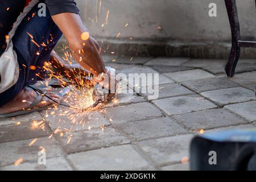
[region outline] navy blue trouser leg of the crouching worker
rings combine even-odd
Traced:
[[[46,16],[39,17],[38,14],[35,14],[32,18],[32,14],[38,10],[38,5],[32,8],[19,24],[12,39],[20,68],[19,78],[10,89],[0,93],[0,107],[12,100],[25,86],[33,85],[40,80],[40,77],[36,76],[37,73],[41,77],[45,76],[42,66],[45,61],[49,60],[53,47],[62,35],[53,22],[48,8]],[[27,32],[33,36],[39,47],[31,41]],[[42,46],[43,43],[46,46]],[[36,70],[30,69],[31,65],[34,65]]]

